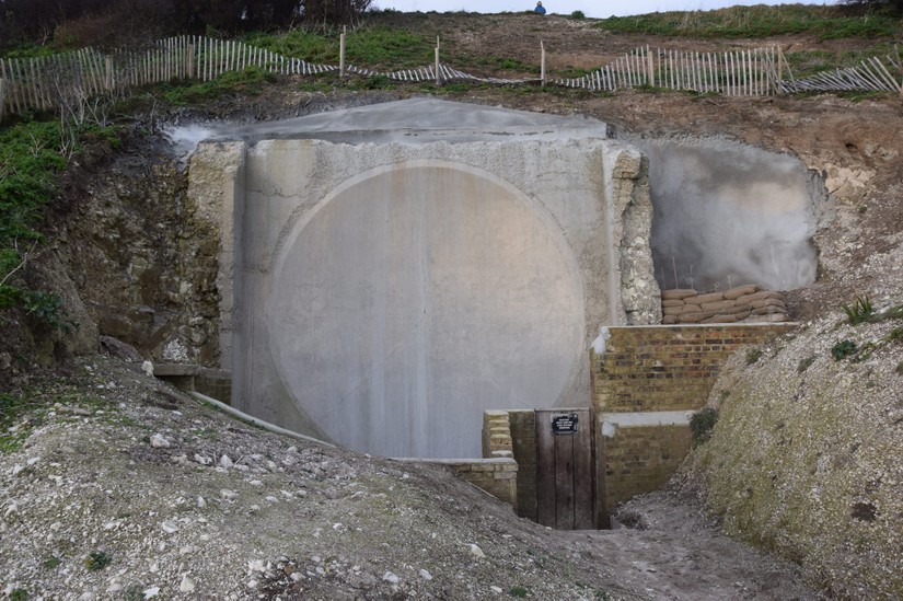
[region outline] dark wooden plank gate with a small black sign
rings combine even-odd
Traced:
[[[536,409],[536,521],[591,530],[595,521],[592,409]]]

